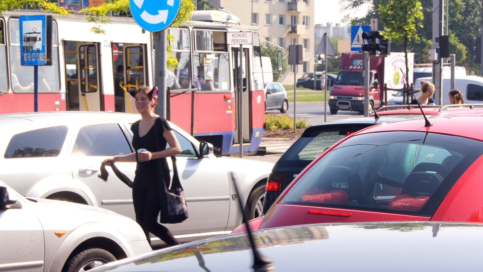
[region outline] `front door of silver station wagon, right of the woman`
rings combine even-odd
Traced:
[[[176,155],[178,174],[185,191],[189,217],[180,224],[170,225],[175,235],[225,231],[230,205],[230,180],[227,169],[220,167],[217,158],[197,158],[194,144],[175,131],[181,145]],[[172,160],[168,159],[172,170]],[[173,172],[171,172],[173,175]]]

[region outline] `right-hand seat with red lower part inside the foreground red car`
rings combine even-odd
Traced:
[[[439,187],[443,178],[434,172],[412,172],[403,185],[401,194],[388,204],[389,210],[418,212]]]

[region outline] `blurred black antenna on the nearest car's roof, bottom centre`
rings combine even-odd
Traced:
[[[241,203],[241,198],[240,194],[238,193],[238,188],[236,187],[236,175],[233,172],[230,172],[231,180],[233,182],[233,187],[235,188],[235,193],[238,196],[238,204],[240,205],[241,209],[241,215],[243,217],[243,223],[245,223],[245,226],[247,228],[247,233],[248,233],[248,239],[250,242],[250,245],[252,246],[252,253],[253,253],[253,265],[252,267],[255,269],[257,272],[265,272],[265,271],[271,271],[275,269],[275,263],[267,258],[266,256],[260,254],[260,252],[257,250],[257,244],[255,243],[253,239],[253,234],[252,230],[250,228],[250,225],[248,224],[247,217],[245,216],[245,212],[243,209],[243,203]]]

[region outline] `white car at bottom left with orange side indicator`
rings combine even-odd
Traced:
[[[0,182],[0,270],[86,271],[151,251],[141,227],[112,211],[24,198]]]

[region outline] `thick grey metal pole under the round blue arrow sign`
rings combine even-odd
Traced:
[[[157,106],[154,112],[166,118],[166,75],[167,75],[167,45],[166,45],[166,30],[153,33],[153,43],[154,43],[154,68],[156,69],[153,73],[154,85],[158,88],[157,93]],[[146,66],[147,63],[144,63]]]

